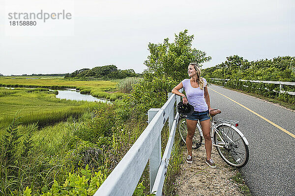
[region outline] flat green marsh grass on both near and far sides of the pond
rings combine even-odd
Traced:
[[[116,84],[112,81],[67,81],[61,77],[0,77],[0,86],[15,88],[0,88],[0,129],[12,121],[17,111],[23,124],[37,122],[39,126],[45,126],[73,115],[81,116],[97,105],[86,101],[60,100],[55,98],[57,92],[49,92],[48,88],[76,88],[82,94],[116,100],[124,95],[116,92]]]

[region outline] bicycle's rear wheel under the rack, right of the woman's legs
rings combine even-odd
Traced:
[[[249,160],[249,148],[242,136],[232,127],[220,124],[214,131],[214,144],[221,158],[229,165],[241,168]],[[236,128],[237,129],[237,128]]]

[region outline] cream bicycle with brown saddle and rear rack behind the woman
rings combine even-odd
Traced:
[[[217,119],[211,116],[210,136],[212,146],[216,147],[218,154],[230,166],[241,168],[249,160],[248,141],[243,133],[237,128],[238,121]],[[187,135],[186,116],[181,116],[177,122],[180,137],[184,143]],[[197,123],[193,137],[193,148],[199,148],[205,143],[200,122]]]

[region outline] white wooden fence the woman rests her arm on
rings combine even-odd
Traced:
[[[181,90],[182,91],[182,90]],[[179,114],[174,116],[174,104],[180,97],[169,93],[161,108],[148,110],[148,126],[99,187],[94,196],[132,196],[149,159],[150,193],[162,195],[165,175],[174,143]],[[170,135],[161,153],[161,130],[169,121]]]

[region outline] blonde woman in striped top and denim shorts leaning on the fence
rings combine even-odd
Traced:
[[[186,158],[187,163],[193,162],[192,155],[192,142],[195,134],[198,120],[200,121],[203,136],[205,138],[206,148],[206,163],[211,168],[216,168],[214,161],[211,159],[212,141],[210,137],[210,117],[209,112],[212,110],[210,107],[210,98],[207,89],[207,81],[205,78],[200,77],[201,70],[196,63],[190,63],[187,69],[190,79],[182,80],[173,90],[172,93],[181,96],[182,102],[188,102],[194,106],[194,113],[188,115],[186,118],[187,123],[187,136],[186,147],[188,155]],[[179,89],[184,88],[186,96],[179,92]]]

